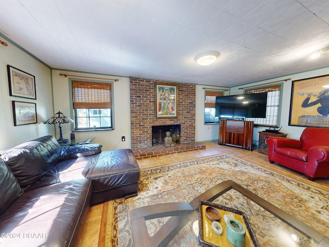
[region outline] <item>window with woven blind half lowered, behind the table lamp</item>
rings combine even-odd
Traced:
[[[75,130],[113,129],[112,84],[72,81]]]

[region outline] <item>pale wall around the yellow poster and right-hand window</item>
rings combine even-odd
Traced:
[[[292,87],[293,81],[300,80],[300,79],[306,79],[306,78],[310,78],[310,77],[323,76],[323,75],[328,75],[328,74],[329,74],[329,67],[315,69],[315,70],[311,70],[308,72],[302,72],[302,73],[272,78],[272,79],[268,79],[268,80],[264,80],[264,81],[254,82],[254,83],[250,83],[250,84],[246,84],[246,85],[242,85],[242,86],[231,87],[230,94],[231,95],[243,94],[244,90],[239,90],[240,87],[257,86],[257,85],[260,85],[263,83],[291,78],[291,80],[288,80],[288,81],[284,82],[284,84],[283,84],[283,95],[282,95],[282,102],[281,102],[282,108],[281,108],[279,125],[280,125],[280,127],[282,126],[282,129],[280,131],[288,134],[287,137],[299,139],[299,137],[300,137],[301,133],[303,132],[303,130],[305,129],[305,127],[299,127],[299,126],[296,127],[296,126],[288,125],[289,111],[290,111],[291,87]],[[263,131],[265,129],[267,129],[267,127],[255,127],[253,130],[253,140],[255,140],[257,142],[259,139],[258,132]]]

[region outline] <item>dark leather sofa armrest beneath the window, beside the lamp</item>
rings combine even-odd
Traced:
[[[77,146],[62,147],[59,162],[70,160],[81,156],[98,154],[102,150],[101,144],[84,144]]]

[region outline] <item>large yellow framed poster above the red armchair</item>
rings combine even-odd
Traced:
[[[329,128],[329,75],[293,81],[289,125]]]

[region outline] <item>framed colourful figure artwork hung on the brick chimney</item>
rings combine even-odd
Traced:
[[[177,86],[155,85],[155,112],[158,118],[177,117]]]

